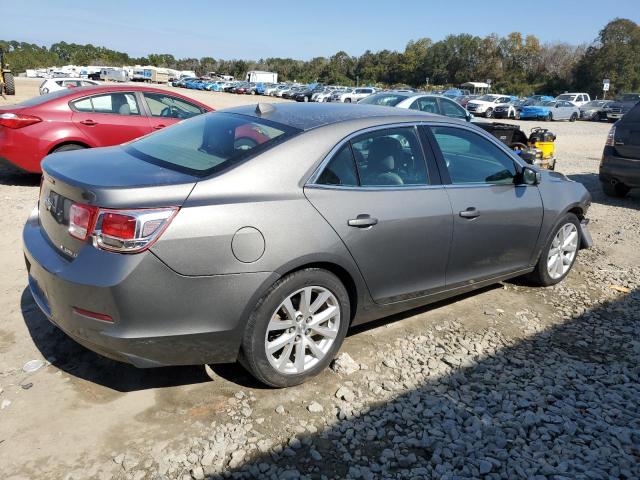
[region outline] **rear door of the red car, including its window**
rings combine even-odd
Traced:
[[[151,132],[133,93],[95,95],[71,104],[71,120],[92,146],[119,145]]]

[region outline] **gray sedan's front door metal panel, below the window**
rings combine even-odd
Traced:
[[[453,242],[447,285],[525,268],[542,224],[542,200],[536,186],[448,185],[453,208]],[[475,208],[477,217],[460,212]]]

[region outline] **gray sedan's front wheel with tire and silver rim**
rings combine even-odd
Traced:
[[[548,287],[561,282],[571,271],[580,248],[580,221],[565,214],[553,229],[536,268],[528,276],[535,285]]]

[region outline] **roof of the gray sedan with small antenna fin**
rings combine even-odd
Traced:
[[[384,124],[393,121],[424,121],[434,118],[437,118],[439,122],[457,123],[453,119],[441,115],[403,108],[382,107],[380,105],[344,103],[260,104],[260,106],[263,105],[265,106],[265,113],[262,115],[257,113],[256,105],[245,105],[222,111],[264,118],[305,131],[325,125],[363,119],[374,119],[372,121],[373,124]]]

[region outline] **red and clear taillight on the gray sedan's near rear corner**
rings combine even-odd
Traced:
[[[93,236],[94,245],[103,250],[138,253],[160,238],[177,211],[176,207],[111,210],[73,204],[69,234],[80,240]]]

